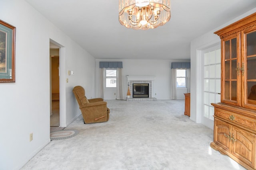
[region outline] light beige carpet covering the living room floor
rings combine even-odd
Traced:
[[[66,129],[79,134],[51,141],[22,170],[244,170],[210,148],[213,131],[184,115],[184,100],[109,100],[110,119]]]

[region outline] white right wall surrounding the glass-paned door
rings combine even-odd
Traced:
[[[215,35],[214,32],[238,21],[250,14],[256,12],[256,8],[246,12],[245,14],[231,20],[223,25],[216,25],[215,29],[205,33],[204,35],[194,39],[190,44],[190,55],[191,55],[191,84],[190,84],[190,119],[196,121],[196,123],[202,123],[213,129],[213,121],[206,122],[203,118],[202,105],[203,105],[203,79],[202,79],[202,50],[213,47],[214,45],[220,44],[220,38]]]

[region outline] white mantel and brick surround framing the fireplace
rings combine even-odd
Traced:
[[[154,76],[126,76],[127,84],[129,83],[130,94],[126,101],[156,101],[154,98]],[[132,98],[132,84],[133,83],[148,83],[149,84],[149,98]]]

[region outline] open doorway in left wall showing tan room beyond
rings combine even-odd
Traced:
[[[60,126],[60,49],[50,47],[50,127]]]

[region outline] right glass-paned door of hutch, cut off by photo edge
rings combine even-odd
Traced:
[[[249,31],[244,34],[244,67],[242,67],[242,76],[244,76],[244,97],[245,107],[256,108],[256,31]]]

